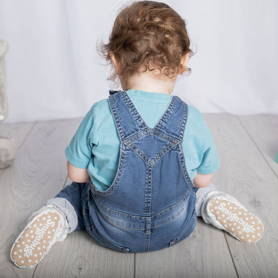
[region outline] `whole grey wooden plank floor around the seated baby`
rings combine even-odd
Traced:
[[[0,277],[278,277],[278,116],[206,114],[222,163],[213,182],[258,215],[265,227],[254,245],[198,219],[193,234],[158,252],[122,254],[75,231],[35,268],[10,261],[28,215],[70,183],[64,149],[81,119],[0,124],[15,138],[17,158],[0,170]]]

